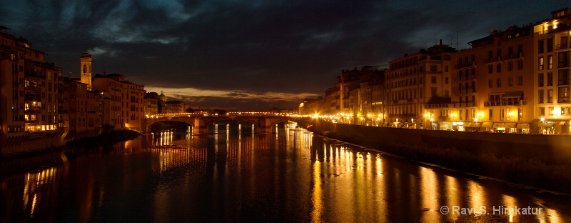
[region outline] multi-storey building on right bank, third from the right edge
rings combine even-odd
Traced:
[[[451,54],[455,49],[440,44],[389,62],[385,71],[385,118],[390,127],[437,129],[433,107],[450,104]],[[430,110],[428,110],[430,111]],[[443,114],[448,116],[448,114]]]

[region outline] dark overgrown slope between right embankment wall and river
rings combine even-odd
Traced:
[[[305,126],[309,126],[307,124]],[[525,156],[500,153],[475,153],[469,149],[437,147],[428,144],[406,144],[402,142],[380,142],[380,139],[360,137],[360,134],[340,134],[343,126],[325,129],[320,124],[308,128],[315,134],[343,142],[358,144],[395,154],[417,162],[435,164],[440,167],[477,174],[515,184],[545,189],[552,192],[571,194],[571,162],[548,162]],[[428,130],[427,130],[428,131]],[[537,147],[537,149],[542,149]]]

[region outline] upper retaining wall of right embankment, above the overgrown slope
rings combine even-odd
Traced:
[[[313,130],[326,137],[343,138],[371,147],[410,145],[454,148],[473,154],[494,154],[498,157],[539,159],[549,163],[571,162],[571,137],[567,135],[400,129],[339,124],[323,120],[313,120],[310,124],[313,124]]]

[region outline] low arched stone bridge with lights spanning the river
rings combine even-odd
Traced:
[[[157,114],[143,119],[142,130],[149,132],[157,122],[184,122],[192,126],[192,134],[208,133],[208,125],[221,121],[246,121],[254,124],[260,134],[271,133],[272,127],[281,122],[293,120],[289,114],[274,112],[228,112],[226,114],[178,113]]]

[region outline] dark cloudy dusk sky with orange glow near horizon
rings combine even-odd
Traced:
[[[2,0],[0,26],[63,76],[122,74],[194,109],[290,109],[342,69],[550,18],[565,1]]]

